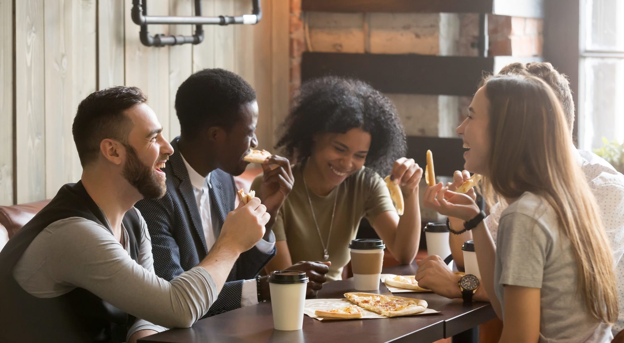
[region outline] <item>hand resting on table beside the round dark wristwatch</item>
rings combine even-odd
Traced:
[[[431,255],[416,261],[416,264],[418,271],[415,279],[418,286],[449,299],[462,297],[457,284],[461,276],[453,273],[440,256]]]

